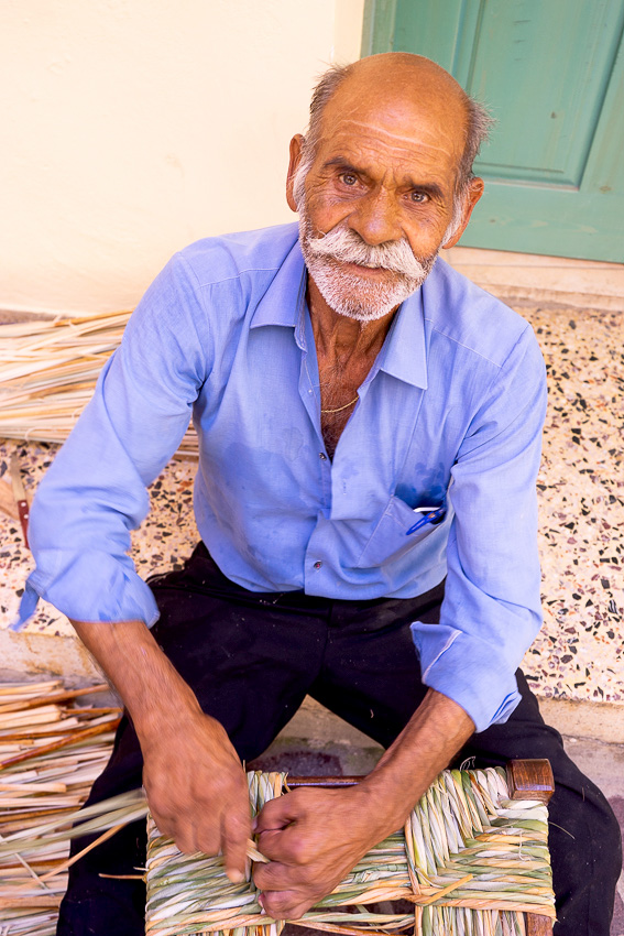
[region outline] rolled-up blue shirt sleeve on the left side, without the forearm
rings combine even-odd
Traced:
[[[142,620],[157,609],[128,555],[146,486],[178,447],[210,359],[199,290],[179,255],[154,281],[95,395],[32,504],[31,574],[20,629],[40,597],[80,621]]]

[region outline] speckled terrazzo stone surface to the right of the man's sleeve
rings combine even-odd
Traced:
[[[521,309],[548,368],[540,695],[624,704],[624,315]]]

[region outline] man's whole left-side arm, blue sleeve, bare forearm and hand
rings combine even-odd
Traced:
[[[39,595],[70,620],[90,622],[75,628],[130,711],[158,827],[184,850],[221,847],[236,877],[250,825],[242,766],[145,625],[157,607],[129,555],[130,530],[147,513],[146,487],[177,448],[211,371],[208,312],[193,271],[174,258],[40,485],[25,610]]]

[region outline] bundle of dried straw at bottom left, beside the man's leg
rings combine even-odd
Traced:
[[[56,930],[67,886],[67,824],[110,757],[120,716],[118,708],[86,707],[80,697],[108,688],[0,684],[2,936]]]

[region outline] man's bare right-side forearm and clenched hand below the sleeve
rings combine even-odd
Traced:
[[[358,786],[296,790],[272,799],[255,823],[270,864],[254,880],[266,912],[297,919],[330,893],[409,810],[474,731],[457,703],[429,689],[396,741]]]

